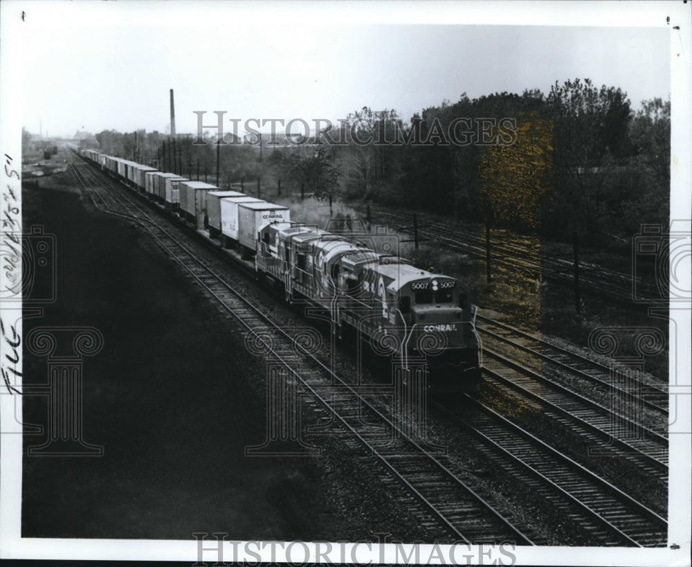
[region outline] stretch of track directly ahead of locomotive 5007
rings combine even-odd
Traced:
[[[531,494],[545,498],[565,521],[579,525],[602,546],[666,544],[667,521],[660,514],[486,404],[465,396],[478,411],[464,417],[446,404],[434,405],[470,433],[468,442],[509,469]]]

